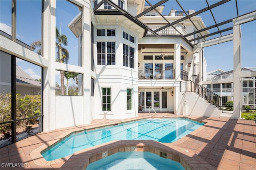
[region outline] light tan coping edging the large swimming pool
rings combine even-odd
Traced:
[[[87,125],[83,125],[83,126],[78,126],[76,127],[75,129],[72,129],[70,131],[67,131],[66,133],[63,133],[62,135],[58,136],[57,138],[53,139],[52,141],[48,141],[46,142],[44,145],[42,145],[41,147],[38,147],[37,149],[33,150],[32,152],[30,152],[30,157],[32,158],[33,162],[36,164],[36,165],[39,165],[39,166],[46,166],[46,165],[53,165],[53,164],[56,164],[56,163],[60,163],[60,162],[69,162],[68,160],[70,158],[72,158],[72,156],[80,153],[80,152],[88,152],[88,149],[92,149],[92,147],[88,148],[88,149],[83,149],[83,150],[80,150],[80,151],[76,151],[74,154],[72,154],[71,156],[66,156],[64,158],[59,158],[59,159],[56,159],[56,160],[51,160],[51,161],[47,161],[45,160],[45,158],[42,156],[42,152],[44,152],[45,150],[52,148],[54,147],[55,145],[57,145],[58,143],[60,143],[61,141],[63,141],[66,137],[74,134],[74,133],[79,133],[81,131],[84,131],[84,130],[87,130],[87,131],[90,131],[90,130],[95,130],[95,129],[100,129],[100,128],[104,128],[104,127],[110,127],[110,126],[113,126],[113,125],[116,125],[116,124],[121,124],[121,123],[128,123],[128,122],[132,122],[132,121],[138,121],[138,120],[143,120],[143,119],[147,119],[147,118],[161,118],[161,117],[165,117],[165,118],[183,118],[183,119],[190,119],[190,120],[193,120],[193,121],[197,121],[197,122],[200,122],[200,123],[205,123],[204,125],[209,125],[210,122],[209,121],[198,121],[194,118],[189,118],[189,117],[182,117],[182,116],[157,116],[157,115],[151,115],[151,116],[145,116],[145,117],[136,117],[135,119],[134,118],[131,118],[131,119],[124,119],[124,120],[114,120],[114,121],[110,121],[110,122],[107,122],[107,123],[101,123],[101,124],[95,124],[95,125],[90,125],[90,128],[86,128]],[[192,131],[190,133],[190,135],[194,135],[196,134],[198,131],[201,131],[202,128],[204,128],[204,125],[202,125],[201,127],[199,127],[198,129]],[[175,141],[173,143],[161,143],[162,145],[172,145],[172,147],[174,145],[178,145],[180,143],[183,143],[184,141],[186,141],[187,139],[189,139],[188,137],[184,136],[182,137],[181,139],[179,139],[178,141]],[[125,140],[125,141],[133,141],[133,140]],[[150,140],[134,140],[134,141],[150,141]],[[117,142],[117,141],[115,141]],[[160,142],[157,142],[157,141],[154,141],[156,143],[160,143]],[[110,142],[111,143],[111,142]],[[104,143],[104,144],[101,144],[101,145],[97,145],[95,147],[101,147],[103,145],[111,145],[109,143]],[[122,142],[121,142],[121,145]],[[116,146],[117,147],[117,146]],[[119,143],[118,143],[118,147],[119,147]],[[135,146],[135,144],[133,144],[132,146],[131,145],[127,145],[127,147],[137,147]],[[153,145],[151,146],[153,147]],[[175,146],[177,147],[177,146]],[[94,147],[93,147],[94,148]],[[103,147],[104,148],[104,147]],[[87,150],[87,151],[86,151]],[[99,150],[99,149],[96,149],[96,150]],[[101,149],[100,149],[101,150]],[[176,151],[177,152],[177,151]],[[99,154],[98,152],[96,152],[96,154]],[[194,153],[195,154],[195,153]],[[200,157],[200,156],[199,156]],[[206,161],[204,161],[206,162]],[[64,165],[66,164],[64,163]],[[207,163],[207,162],[206,162]],[[208,164],[208,163],[207,163]],[[63,165],[63,166],[64,166]],[[87,167],[87,166],[86,166]],[[81,168],[81,166],[80,166]],[[187,168],[186,168],[187,169]]]

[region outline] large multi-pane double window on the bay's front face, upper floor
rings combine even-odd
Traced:
[[[107,63],[106,63],[107,61]],[[116,64],[116,43],[97,42],[97,64],[115,65]]]

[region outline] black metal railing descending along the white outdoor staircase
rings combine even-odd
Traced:
[[[196,82],[192,82],[191,80],[181,81],[180,92],[194,92],[206,100],[206,102],[222,109],[222,98]]]

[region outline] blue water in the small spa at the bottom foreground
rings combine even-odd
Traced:
[[[174,160],[151,152],[117,152],[88,165],[86,170],[185,170]]]

